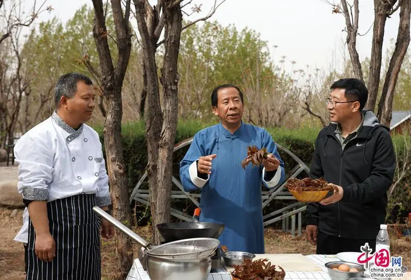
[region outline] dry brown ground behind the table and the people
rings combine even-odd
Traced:
[[[13,210],[0,208],[0,280],[24,280],[24,250],[20,242],[13,241],[14,236],[22,225],[23,211],[18,210],[15,217],[10,217]],[[148,227],[135,229],[137,234],[146,240],[151,239]],[[279,230],[266,229],[267,253],[301,253],[314,254],[313,247],[304,236],[292,237],[289,233]],[[391,235],[391,254],[402,256],[405,266],[411,265],[411,239],[397,238]],[[115,239],[102,240],[102,280],[114,279],[118,273],[115,256]],[[134,244],[134,257],[137,257],[139,246]]]

